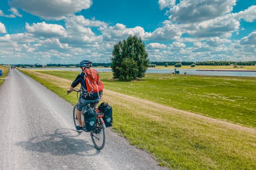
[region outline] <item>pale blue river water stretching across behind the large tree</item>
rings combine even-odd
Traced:
[[[26,68],[26,69],[44,69],[44,70],[62,70],[62,71],[80,71],[80,68]],[[111,72],[111,68],[94,68],[99,72]],[[250,71],[196,71],[196,69],[177,69],[180,74],[195,74],[195,75],[209,75],[209,76],[242,76],[242,77],[256,77],[256,72]],[[159,73],[159,74],[171,74],[173,69],[153,69],[149,68],[146,73]]]

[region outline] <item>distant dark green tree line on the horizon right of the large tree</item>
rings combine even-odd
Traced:
[[[155,65],[175,65],[177,63],[181,63],[182,65],[255,65],[256,61],[198,61],[198,62],[192,62],[192,61],[154,61],[150,62],[150,64]]]

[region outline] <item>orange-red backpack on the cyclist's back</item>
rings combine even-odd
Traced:
[[[98,93],[98,96],[99,96],[99,92],[103,91],[104,84],[100,81],[99,74],[96,70],[93,70],[93,69],[85,70],[84,81],[86,83],[87,93],[89,95],[93,93]]]

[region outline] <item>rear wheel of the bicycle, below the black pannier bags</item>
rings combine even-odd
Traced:
[[[102,122],[97,119],[97,123],[95,125],[95,129],[90,131],[90,135],[93,141],[94,146],[102,150],[105,146],[106,142],[106,134],[105,134],[105,128],[102,125]]]

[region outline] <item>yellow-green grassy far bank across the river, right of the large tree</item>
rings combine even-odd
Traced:
[[[174,65],[169,65],[168,67],[165,67],[164,65],[157,65],[154,69],[174,69]],[[190,65],[182,65],[180,69],[225,69],[225,70],[256,70],[255,65],[245,65],[243,67],[240,67],[238,65],[238,68],[234,68],[233,65],[196,65],[195,67],[190,67]]]

